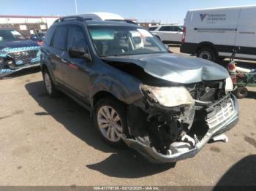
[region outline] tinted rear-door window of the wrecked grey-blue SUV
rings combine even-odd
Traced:
[[[53,39],[53,47],[59,50],[67,50],[67,26],[59,26],[56,28]]]

